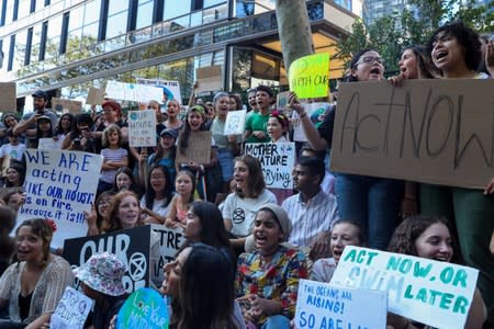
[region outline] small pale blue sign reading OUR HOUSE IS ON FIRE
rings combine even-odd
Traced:
[[[128,111],[128,145],[132,147],[156,146],[156,111]]]

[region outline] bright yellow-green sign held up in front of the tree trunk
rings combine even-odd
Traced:
[[[329,54],[301,57],[290,65],[290,90],[299,99],[327,97],[329,92]]]

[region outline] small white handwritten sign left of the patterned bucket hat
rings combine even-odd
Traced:
[[[52,315],[50,329],[82,329],[91,310],[92,299],[68,286]]]

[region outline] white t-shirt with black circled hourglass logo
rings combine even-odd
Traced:
[[[252,228],[257,211],[267,203],[277,203],[274,194],[265,189],[257,198],[239,197],[236,193],[226,196],[223,218],[232,219],[232,234],[247,237]]]

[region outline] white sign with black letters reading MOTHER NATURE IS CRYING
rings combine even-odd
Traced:
[[[268,188],[293,189],[294,143],[247,143],[245,154],[259,159]]]

